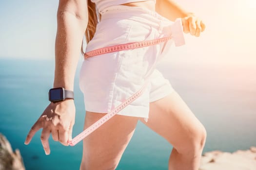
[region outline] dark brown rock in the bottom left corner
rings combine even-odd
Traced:
[[[25,170],[20,151],[13,152],[11,144],[0,133],[0,170]]]

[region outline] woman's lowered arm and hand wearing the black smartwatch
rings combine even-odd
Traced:
[[[57,21],[53,86],[73,90],[80,47],[88,21],[87,1],[59,0]],[[45,154],[50,154],[48,142],[50,134],[52,134],[53,140],[68,145],[68,140],[72,139],[75,112],[75,104],[72,99],[51,102],[32,126],[25,144],[29,144],[35,133],[42,128],[41,142]]]

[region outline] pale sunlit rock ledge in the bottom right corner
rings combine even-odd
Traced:
[[[202,155],[199,170],[256,170],[256,147],[234,153],[212,151]]]

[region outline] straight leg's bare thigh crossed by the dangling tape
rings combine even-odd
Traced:
[[[86,111],[84,129],[105,114]],[[137,117],[116,115],[83,140],[81,170],[114,170],[134,134]]]

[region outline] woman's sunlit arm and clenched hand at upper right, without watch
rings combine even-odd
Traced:
[[[157,0],[156,11],[171,21],[175,21],[178,17],[182,18],[184,33],[199,36],[205,29],[205,24],[200,18],[185,11],[173,0]]]

